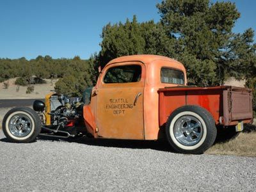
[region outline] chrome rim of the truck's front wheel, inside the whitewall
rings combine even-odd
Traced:
[[[28,116],[23,114],[13,115],[10,118],[9,129],[13,136],[22,138],[28,136],[32,130],[32,122]]]

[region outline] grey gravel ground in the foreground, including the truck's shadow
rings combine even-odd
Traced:
[[[255,191],[256,158],[183,155],[166,143],[82,138],[8,143],[0,191]]]

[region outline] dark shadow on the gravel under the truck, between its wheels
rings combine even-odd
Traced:
[[[110,140],[110,139],[93,139],[93,138],[68,138],[58,139],[47,136],[38,136],[38,140],[47,141],[67,141],[70,143],[81,143],[99,147],[116,147],[116,148],[138,148],[152,149],[166,152],[174,152],[167,141],[139,141],[139,140]]]

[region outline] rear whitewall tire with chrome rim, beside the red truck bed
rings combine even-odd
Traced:
[[[217,130],[211,113],[200,106],[182,106],[169,116],[166,137],[177,152],[202,154],[212,146]]]

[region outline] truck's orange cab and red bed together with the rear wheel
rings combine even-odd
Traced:
[[[167,138],[173,148],[198,153],[215,141],[216,127],[229,127],[228,131],[235,135],[243,124],[252,121],[251,90],[231,86],[195,88],[186,84],[186,69],[179,61],[155,55],[116,58],[100,72],[90,104],[83,107],[86,129],[94,138],[124,140],[159,140],[166,137],[164,129],[168,129]],[[179,114],[179,110],[183,116],[177,119],[172,114]],[[179,120],[180,129],[175,128],[177,125],[168,128],[173,118]],[[190,131],[186,132],[189,126]],[[193,126],[198,127],[192,129]],[[198,140],[211,141],[198,149],[193,147],[196,137],[196,145]]]

